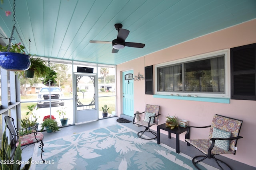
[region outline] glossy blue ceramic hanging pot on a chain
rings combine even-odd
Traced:
[[[0,52],[0,66],[10,71],[28,70],[31,64],[29,58],[21,53]]]

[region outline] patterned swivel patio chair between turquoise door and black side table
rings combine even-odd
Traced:
[[[143,111],[142,113],[145,113],[144,114],[144,120],[140,120],[140,121],[135,121],[135,118],[136,118],[136,115],[140,115],[142,113],[138,113],[136,112],[134,114],[134,118],[133,118],[133,121],[132,123],[133,124],[136,124],[136,125],[140,125],[140,126],[144,126],[145,127],[145,130],[144,131],[140,131],[138,132],[138,137],[139,138],[142,138],[142,139],[156,139],[156,133],[155,132],[152,132],[150,130],[150,127],[152,125],[158,125],[158,116],[160,114],[159,113],[159,107],[160,106],[157,106],[157,105],[150,105],[150,104],[146,104],[146,109],[145,111]],[[152,138],[147,138],[147,137],[142,137],[142,135],[145,133],[145,132],[151,132],[154,137]]]

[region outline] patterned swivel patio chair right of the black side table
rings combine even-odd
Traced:
[[[204,127],[188,126],[189,130],[186,133],[186,138],[190,138],[190,128],[205,128],[210,127],[209,139],[186,139],[186,141],[193,145],[196,149],[204,153],[204,155],[195,156],[192,159],[194,166],[200,170],[197,166],[198,162],[205,160],[206,158],[214,158],[220,169],[219,161],[226,164],[220,159],[215,158],[218,154],[236,154],[236,144],[238,139],[242,138],[239,136],[242,120],[225,117],[222,115],[214,115],[212,125]],[[201,157],[202,159],[197,159]],[[228,168],[232,168],[226,164]]]

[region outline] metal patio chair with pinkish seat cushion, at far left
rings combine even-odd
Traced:
[[[11,135],[12,135],[12,140],[11,140],[11,147],[16,149],[16,147],[18,147],[19,142],[20,142],[20,146],[25,146],[23,149],[25,149],[26,147],[28,147],[31,144],[34,143],[39,143],[39,148],[41,149],[41,159],[44,162],[43,158],[42,158],[42,153],[44,152],[43,147],[44,147],[44,135],[41,132],[32,132],[30,134],[24,135],[22,137],[19,137],[18,135],[18,131],[20,129],[16,129],[15,125],[14,125],[14,119],[12,117],[9,116],[5,116],[4,117],[5,123],[6,123],[6,127],[9,129]]]

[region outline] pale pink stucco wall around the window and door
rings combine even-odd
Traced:
[[[256,20],[217,31],[117,65],[117,115],[120,116],[122,114],[122,71],[132,69],[134,70],[134,75],[137,75],[138,72],[145,75],[145,66],[251,43],[256,43]],[[143,80],[134,82],[134,111],[144,111],[146,104],[160,105],[160,113],[162,114],[159,119],[160,124],[165,122],[165,116],[168,113],[170,115],[176,114],[180,119],[189,120],[190,125],[198,126],[210,125],[212,117],[216,113],[243,120],[240,131],[240,135],[243,138],[238,141],[236,155],[224,154],[223,156],[256,167],[256,137],[254,129],[256,125],[256,101],[230,100],[230,104],[221,104],[153,98],[152,95],[145,95],[144,86]],[[156,126],[153,126],[152,129],[156,130]],[[209,129],[193,129],[191,138],[207,138],[208,131]],[[180,140],[184,141],[184,134],[180,136]]]

